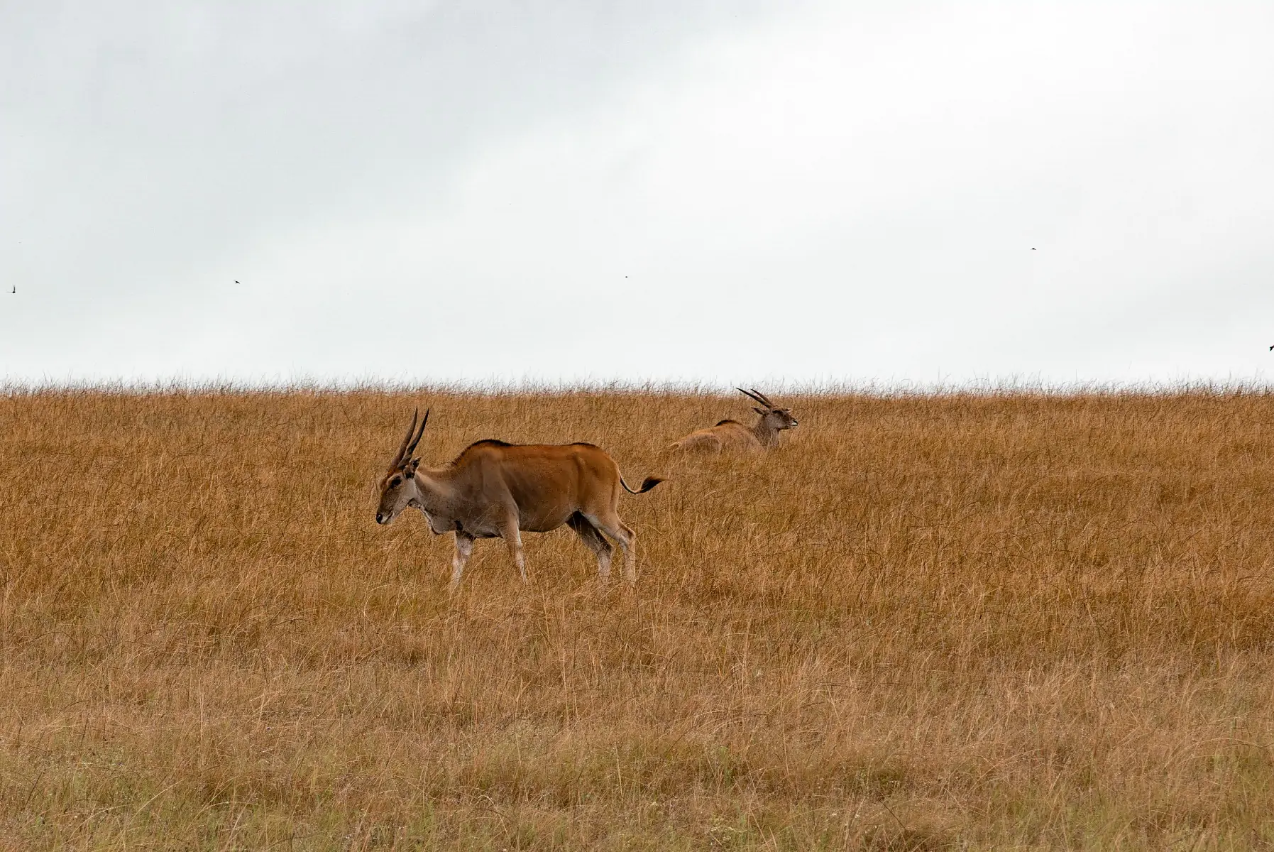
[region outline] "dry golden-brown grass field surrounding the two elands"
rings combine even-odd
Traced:
[[[1274,396],[0,396],[0,848],[1274,846]],[[590,441],[640,578],[375,523]]]

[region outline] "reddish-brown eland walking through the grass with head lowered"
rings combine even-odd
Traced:
[[[624,553],[624,579],[637,581],[637,535],[619,517],[619,489],[645,494],[664,480],[648,476],[633,490],[619,475],[615,460],[591,443],[511,444],[488,439],[469,444],[448,465],[420,467],[420,460],[412,453],[420,443],[429,413],[417,429],[419,414],[417,409],[412,415],[406,437],[381,481],[376,522],[390,523],[410,506],[424,513],[436,534],[455,532],[452,591],[460,585],[474,539],[503,539],[526,582],[521,531],[548,532],[563,523],[596,554],[603,579],[610,576],[614,550],[605,532]]]

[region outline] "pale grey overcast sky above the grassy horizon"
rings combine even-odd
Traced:
[[[0,0],[0,378],[1269,381],[1271,45],[1268,0]]]

